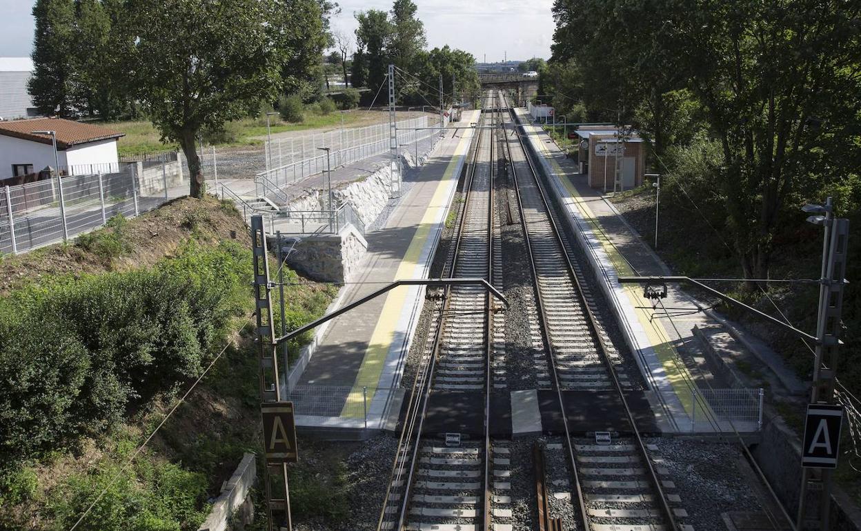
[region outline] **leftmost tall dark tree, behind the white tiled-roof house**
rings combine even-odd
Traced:
[[[70,116],[75,83],[75,4],[73,0],[38,0],[33,16],[36,32],[30,96],[40,114]]]

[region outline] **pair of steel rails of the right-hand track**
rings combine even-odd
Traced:
[[[511,117],[513,119],[514,118],[513,111],[510,111],[510,114],[511,114]],[[661,481],[660,481],[660,478],[658,477],[658,473],[655,470],[653,463],[652,463],[652,460],[650,459],[650,457],[648,455],[646,444],[642,440],[640,429],[637,428],[634,415],[630,409],[627,398],[625,398],[622,385],[620,384],[618,377],[616,375],[616,369],[615,369],[615,367],[613,367],[612,363],[610,362],[610,358],[607,355],[607,350],[608,350],[608,346],[606,344],[607,340],[601,334],[598,333],[598,329],[599,329],[598,318],[595,316],[594,312],[592,312],[592,308],[589,307],[589,305],[587,304],[587,301],[585,300],[585,296],[583,294],[583,286],[580,284],[579,276],[577,275],[577,270],[573,265],[571,257],[568,256],[568,250],[567,250],[566,246],[564,244],[562,244],[561,231],[560,231],[558,225],[556,225],[556,221],[555,221],[553,215],[551,214],[553,211],[550,208],[550,205],[549,205],[549,202],[547,199],[547,193],[545,192],[544,187],[543,187],[542,182],[541,182],[541,179],[539,178],[538,170],[536,169],[536,166],[532,161],[533,154],[531,153],[530,149],[527,148],[527,146],[523,142],[522,133],[525,134],[523,127],[517,124],[516,119],[514,119],[512,121],[514,122],[515,130],[516,130],[516,134],[517,134],[517,142],[519,143],[519,145],[523,149],[523,154],[525,156],[526,162],[530,167],[530,173],[535,178],[536,187],[538,189],[542,204],[544,205],[545,210],[548,213],[548,224],[550,225],[551,231],[554,234],[554,238],[560,243],[560,246],[562,249],[562,256],[564,256],[565,262],[567,264],[568,274],[570,275],[574,285],[577,287],[576,291],[578,293],[580,303],[583,306],[585,315],[588,317],[588,323],[590,325],[590,328],[592,329],[592,332],[594,333],[595,337],[597,337],[597,339],[598,339],[598,342],[597,342],[598,343],[597,344],[598,352],[601,355],[600,356],[601,359],[604,361],[604,365],[607,368],[608,374],[610,375],[610,379],[612,380],[612,383],[613,383],[613,388],[616,390],[619,398],[621,399],[621,402],[623,404],[623,409],[625,412],[625,417],[627,418],[629,425],[631,427],[631,430],[634,433],[635,441],[637,443],[636,448],[639,451],[639,453],[641,454],[641,458],[643,460],[643,463],[645,464],[645,466],[647,468],[647,478],[649,479],[649,482],[652,484],[653,491],[655,491],[658,494],[658,498],[659,498],[658,502],[659,502],[660,512],[661,512],[662,516],[664,517],[665,522],[668,522],[670,524],[669,527],[671,529],[677,529],[678,527],[676,525],[675,518],[672,514],[672,509],[670,508],[670,505],[667,502],[666,494],[664,493],[664,489],[661,485]],[[519,129],[519,131],[517,129]],[[509,146],[509,153],[511,153],[511,145],[508,145],[508,146]],[[512,171],[514,170],[513,164],[511,164],[511,169],[512,169]],[[518,201],[518,204],[520,204],[521,208],[522,208],[523,206],[521,203],[520,192],[519,192],[519,189],[517,188],[517,179],[515,179],[514,182],[515,182],[515,188],[517,190],[517,201]],[[527,232],[526,226],[525,226],[525,221],[523,220],[523,217],[521,217],[521,219],[522,219],[522,223],[523,223],[523,232],[525,234]],[[528,235],[526,236],[526,238],[529,238]],[[529,244],[527,244],[527,248],[530,249]],[[532,252],[530,250],[530,260],[531,260],[531,258],[532,258]],[[532,262],[532,268],[533,268],[533,275],[536,275],[535,262],[534,261]],[[537,278],[537,275],[536,275],[536,278]],[[536,302],[540,304],[540,299],[541,299],[540,294],[536,299],[537,299]],[[550,346],[550,344],[548,343],[548,347],[549,346]],[[571,461],[571,466],[572,466],[571,469],[572,469],[572,473],[573,473],[573,479],[574,479],[575,484],[577,485],[577,493],[578,493],[578,497],[579,497],[580,511],[581,511],[581,516],[583,518],[583,528],[584,529],[590,529],[591,526],[589,525],[589,516],[588,516],[588,513],[586,512],[586,509],[585,509],[585,497],[583,495],[583,490],[582,490],[582,487],[580,485],[580,480],[579,480],[578,473],[577,473],[577,463],[576,463],[576,460],[574,460],[573,444],[571,441],[571,435],[570,435],[570,431],[568,429],[566,415],[564,414],[565,405],[564,405],[564,401],[562,400],[561,387],[559,386],[558,374],[556,373],[556,367],[554,366],[553,363],[551,363],[551,367],[553,368],[554,383],[555,383],[557,391],[559,392],[559,402],[560,402],[560,406],[561,406],[562,411],[563,411],[563,414],[561,417],[563,419],[563,425],[564,425],[564,429],[565,429],[567,448],[568,448],[568,459]]]

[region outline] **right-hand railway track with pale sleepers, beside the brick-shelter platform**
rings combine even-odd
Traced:
[[[505,96],[501,96],[505,100]],[[511,123],[511,115],[505,123]],[[564,442],[548,444],[544,450],[550,460],[567,460],[573,492],[562,489],[554,496],[570,498],[577,505],[580,528],[591,531],[658,531],[680,529],[677,518],[687,516],[684,509],[672,507],[681,501],[672,481],[663,479],[667,471],[660,458],[650,452],[641,439],[633,415],[624,397],[630,381],[622,360],[596,315],[592,293],[572,256],[567,237],[559,230],[554,209],[548,202],[536,167],[523,139],[520,127],[516,134],[506,134],[505,152],[510,161],[513,182],[521,210],[523,232],[536,282],[536,306],[543,339],[547,345],[549,374],[545,381],[559,392],[563,411]],[[539,381],[541,381],[541,377]],[[563,392],[612,391],[621,398],[632,436],[616,441],[573,438],[573,428],[564,415]],[[609,437],[608,437],[609,439]],[[563,455],[558,455],[560,453]],[[554,455],[556,454],[556,455]],[[549,479],[561,485],[563,479]],[[548,509],[541,529],[556,528],[554,515]]]

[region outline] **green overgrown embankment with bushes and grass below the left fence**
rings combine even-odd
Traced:
[[[102,491],[79,529],[202,522],[259,446],[245,233],[231,205],[186,198],[3,259],[0,528],[68,529]],[[290,326],[318,317],[333,293],[288,287]]]

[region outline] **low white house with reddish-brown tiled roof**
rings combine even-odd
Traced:
[[[62,118],[10,120],[0,121],[0,181],[56,167],[51,135],[34,131],[56,132],[61,175],[117,171],[116,142],[125,133]]]

